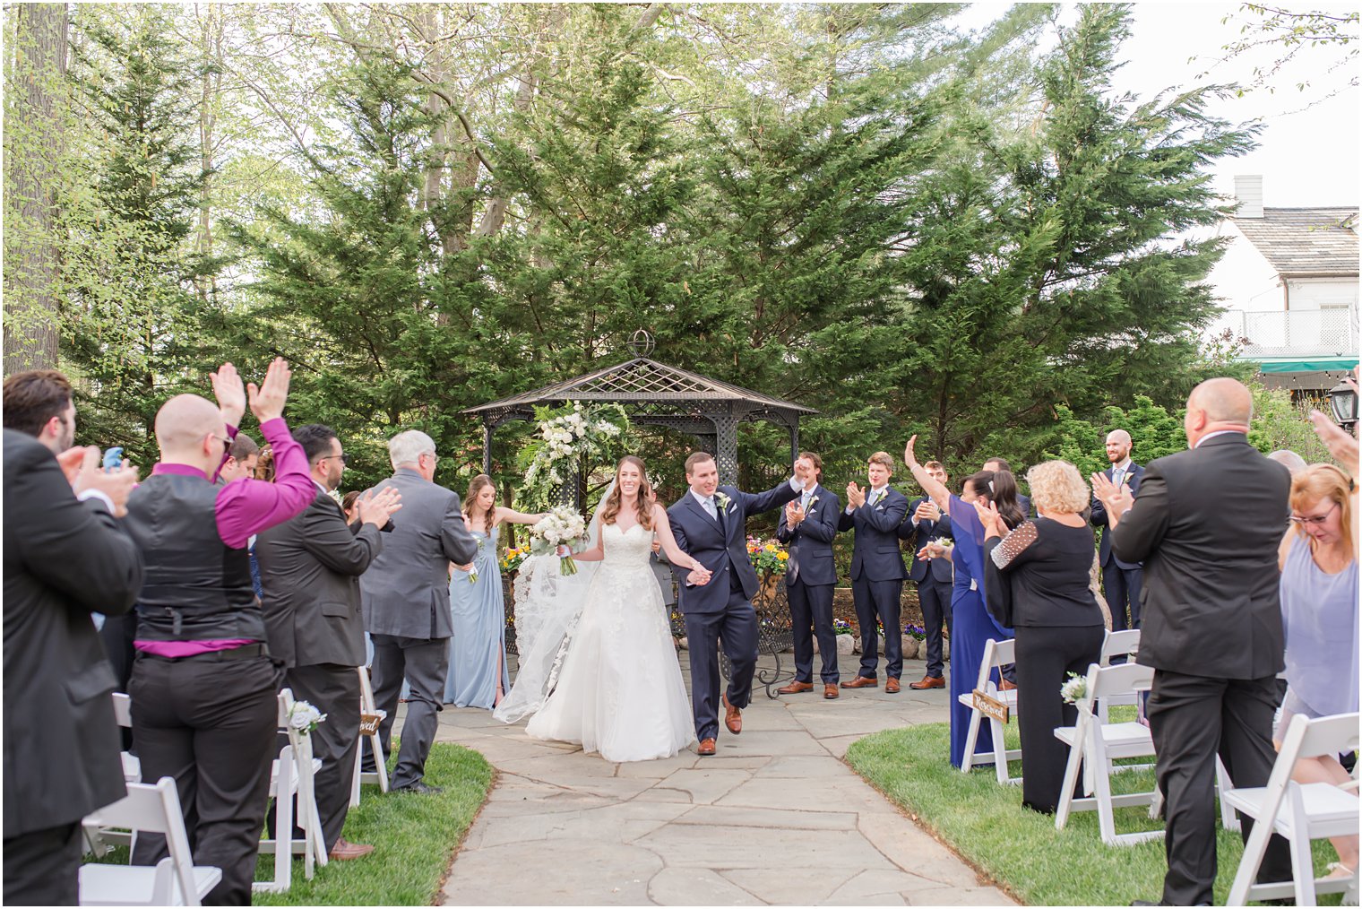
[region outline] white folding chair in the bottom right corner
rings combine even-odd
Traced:
[[[1358,834],[1358,797],[1328,782],[1299,784],[1291,780],[1291,770],[1299,758],[1337,755],[1358,747],[1358,714],[1343,713],[1310,720],[1291,717],[1282,750],[1267,786],[1230,789],[1222,800],[1231,808],[1253,818],[1253,833],[1244,845],[1244,859],[1230,886],[1227,906],[1244,906],[1249,899],[1280,899],[1295,897],[1298,906],[1317,905],[1316,894],[1343,893],[1355,889],[1358,876],[1314,876],[1310,841],[1324,837],[1355,837]],[[1256,884],[1267,852],[1268,837],[1280,834],[1291,845],[1291,875],[1294,882]]]

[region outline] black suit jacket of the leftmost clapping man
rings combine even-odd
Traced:
[[[127,795],[113,669],[91,612],[123,615],[142,553],[76,502],[37,439],[4,431],[4,837],[80,820]]]

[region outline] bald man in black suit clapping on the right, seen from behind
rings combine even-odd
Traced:
[[[1272,714],[1284,639],[1278,544],[1291,477],[1248,442],[1253,397],[1209,379],[1188,398],[1188,451],[1144,469],[1140,495],[1092,474],[1111,546],[1144,563],[1139,662],[1154,666],[1150,730],[1166,797],[1163,902],[1209,905],[1215,883],[1215,756],[1237,788],[1272,773]],[[1250,822],[1241,818],[1248,839]],[[1268,845],[1260,882],[1290,880],[1286,842]]]

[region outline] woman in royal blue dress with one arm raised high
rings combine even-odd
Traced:
[[[951,763],[959,767],[964,759],[971,713],[970,707],[960,703],[959,695],[974,691],[987,642],[1012,638],[1012,630],[994,621],[983,605],[983,525],[974,502],[994,503],[1008,527],[1022,523],[1026,515],[1017,506],[1016,480],[1011,473],[982,470],[964,481],[962,495],[953,496],[918,463],[913,452],[917,440],[917,436],[908,439],[903,459],[922,491],[941,511],[951,515],[951,533],[955,538],[955,546],[949,552],[944,552],[938,544],[929,544],[919,555],[929,559],[948,556],[955,564],[955,586],[951,591]],[[977,754],[993,751],[993,730],[989,724],[979,725],[974,750]]]

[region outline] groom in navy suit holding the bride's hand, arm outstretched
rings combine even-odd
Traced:
[[[733,668],[723,695],[723,725],[742,732],[742,707],[752,700],[752,675],[757,668],[757,572],[748,559],[746,519],[791,502],[804,491],[790,477],[761,495],[735,487],[719,487],[714,455],[696,451],[685,459],[691,491],[667,508],[677,545],[708,571],[707,583],[692,583],[689,572],[673,567],[681,581],[681,613],[691,642],[691,703],[699,754],[712,756],[719,735],[719,641]]]

